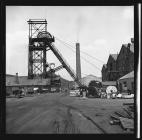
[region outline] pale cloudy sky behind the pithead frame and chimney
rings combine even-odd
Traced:
[[[72,69],[76,71],[75,44],[79,42],[82,77],[101,77],[109,55],[119,53],[122,44],[134,37],[133,12],[133,6],[6,6],[6,73],[28,75],[27,21],[46,19],[56,48]],[[51,51],[47,52],[47,62],[60,65]],[[65,69],[57,74],[72,80]]]

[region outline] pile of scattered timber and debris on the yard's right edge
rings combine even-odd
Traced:
[[[123,103],[123,111],[111,114],[111,125],[120,125],[124,130],[134,131],[134,103]]]

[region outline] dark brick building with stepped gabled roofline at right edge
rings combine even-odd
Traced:
[[[102,67],[102,81],[117,81],[134,70],[134,41],[123,44],[119,54],[110,54]]]

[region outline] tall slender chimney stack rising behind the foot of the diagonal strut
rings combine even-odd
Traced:
[[[81,80],[80,44],[76,43],[76,76]]]

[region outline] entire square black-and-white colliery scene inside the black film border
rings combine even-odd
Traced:
[[[6,134],[135,134],[134,5],[7,5]]]

